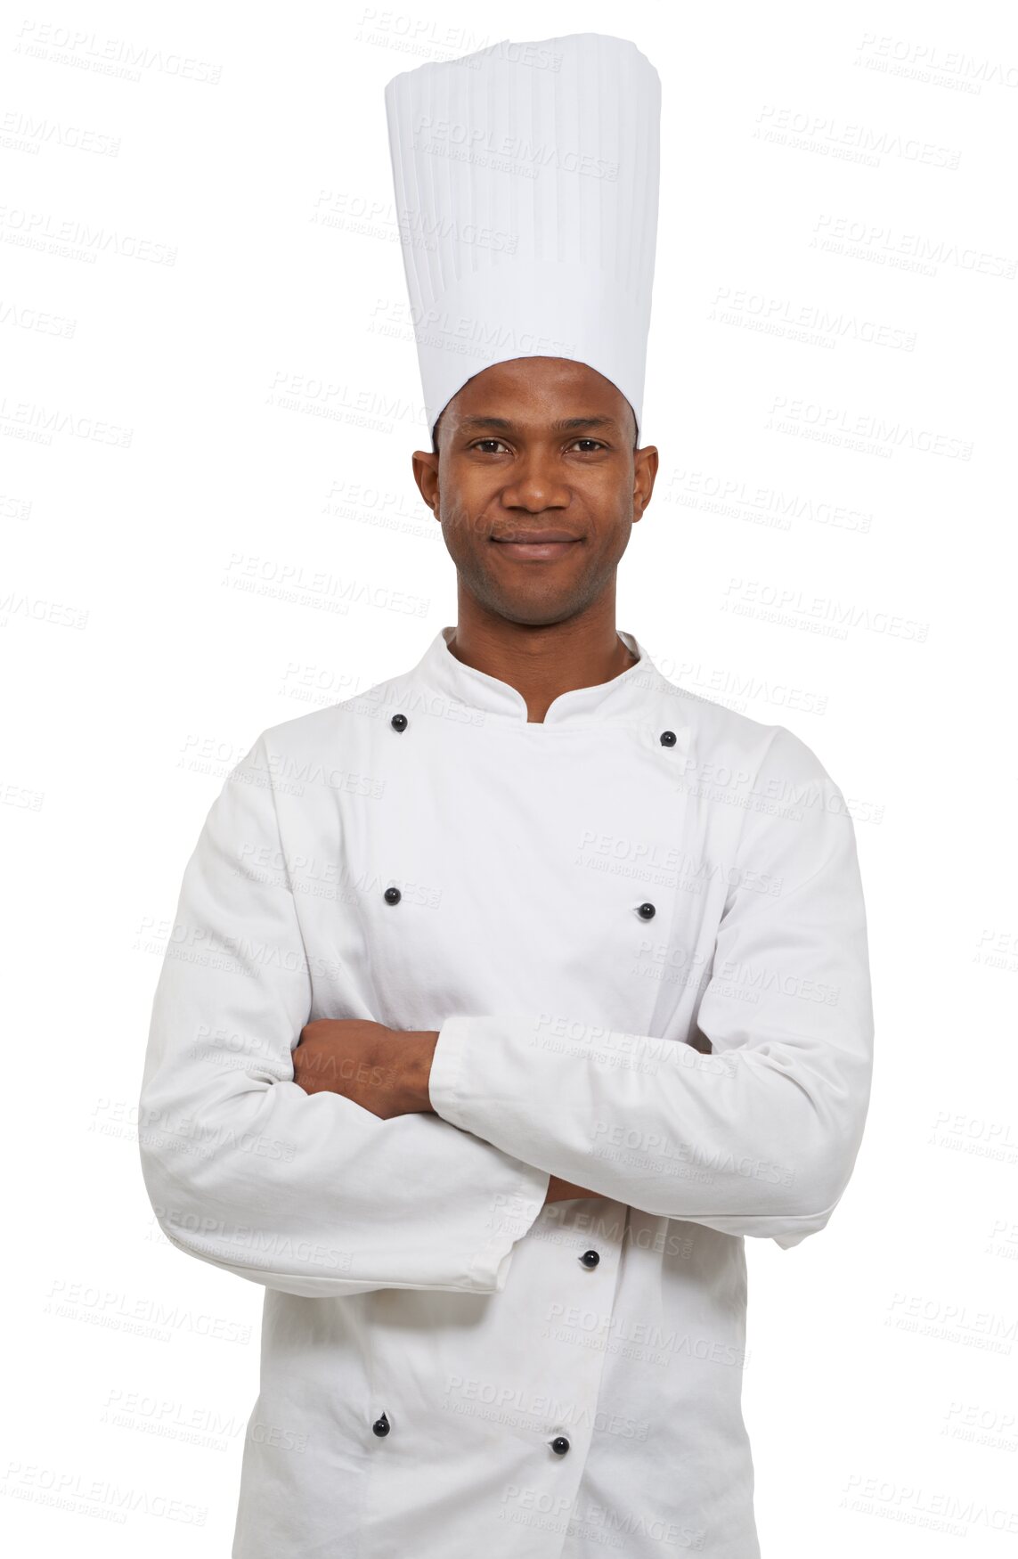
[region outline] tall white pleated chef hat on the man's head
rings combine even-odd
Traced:
[[[505,39],[385,87],[427,426],[468,379],[569,357],[641,426],[661,81],[624,37]]]

